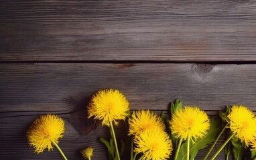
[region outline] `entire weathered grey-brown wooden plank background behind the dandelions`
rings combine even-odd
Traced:
[[[132,110],[167,111],[178,98],[210,115],[233,104],[256,111],[255,62],[256,1],[1,0],[0,159],[62,159],[27,143],[27,127],[46,113],[64,118],[69,159],[88,146],[107,159],[98,138],[108,129],[84,134],[94,127],[88,99],[105,88]]]

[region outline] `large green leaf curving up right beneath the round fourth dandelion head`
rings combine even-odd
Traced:
[[[221,121],[219,119],[210,119],[210,129],[208,130],[208,133],[202,138],[202,139],[196,139],[194,143],[191,142],[190,144],[190,159],[194,159],[200,149],[204,149],[209,143],[212,143],[218,133],[220,133]],[[187,141],[182,144],[180,147],[180,152],[178,154],[178,159],[183,160],[186,159],[186,147],[187,147]]]

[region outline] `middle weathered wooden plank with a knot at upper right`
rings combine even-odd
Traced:
[[[256,111],[256,65],[0,64],[0,109],[70,113],[101,89],[123,92],[131,109],[166,110],[178,98],[208,111],[243,104]],[[7,113],[1,114],[4,116]]]

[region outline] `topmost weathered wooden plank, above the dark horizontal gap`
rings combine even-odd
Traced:
[[[255,61],[256,1],[10,1],[0,61]]]

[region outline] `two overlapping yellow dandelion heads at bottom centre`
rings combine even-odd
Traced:
[[[172,153],[172,140],[165,131],[162,119],[155,113],[133,112],[129,119],[129,135],[135,136],[134,151],[142,153],[141,159],[167,159]]]

